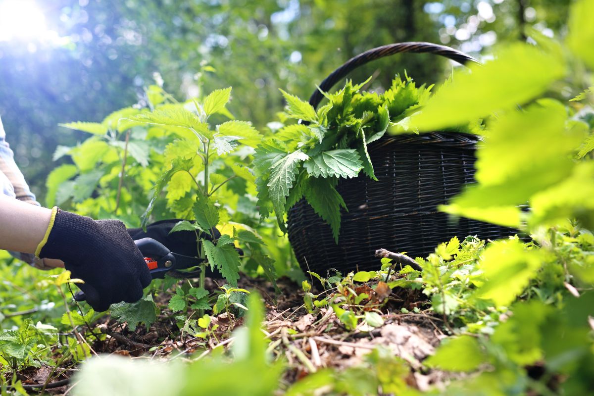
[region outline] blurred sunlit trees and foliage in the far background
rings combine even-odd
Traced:
[[[58,123],[100,121],[129,103],[146,102],[144,87],[153,82],[154,72],[176,97],[232,85],[241,100],[229,110],[261,129],[282,109],[277,88],[308,97],[334,68],[366,49],[426,40],[478,53],[517,39],[529,25],[545,34],[563,32],[568,1],[36,3],[48,31],[61,38],[0,39],[0,116],[17,163],[44,201],[56,145],[84,139]],[[351,77],[363,81],[377,72],[374,84],[387,87],[396,72],[407,69],[419,83],[432,83],[445,65],[429,55],[394,56]]]

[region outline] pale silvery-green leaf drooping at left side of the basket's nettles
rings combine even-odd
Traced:
[[[295,181],[301,161],[309,157],[301,150],[287,154],[284,158],[273,164],[270,173],[270,180],[267,186],[270,188],[269,195],[277,215],[285,212],[286,197]]]

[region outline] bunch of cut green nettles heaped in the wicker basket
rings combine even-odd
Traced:
[[[371,79],[371,78],[370,78]],[[285,213],[305,198],[332,229],[338,242],[340,209],[348,210],[336,185],[362,171],[372,180],[368,145],[386,134],[388,126],[405,129],[406,120],[431,96],[432,85],[417,87],[408,75],[396,75],[384,93],[360,92],[362,84],[347,81],[342,90],[324,93],[328,103],[317,111],[311,104],[282,91],[286,118],[305,123],[283,126],[258,146],[254,156],[255,180],[261,216],[273,211],[282,230]],[[481,122],[452,130],[476,133]]]

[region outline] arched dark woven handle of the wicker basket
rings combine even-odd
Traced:
[[[433,53],[435,55],[445,56],[445,58],[451,59],[452,61],[456,61],[462,65],[465,65],[466,62],[476,62],[475,58],[472,56],[466,55],[459,50],[455,50],[450,47],[446,47],[444,45],[432,44],[432,43],[425,43],[425,42],[405,42],[405,43],[394,43],[388,44],[381,47],[376,47],[370,50],[365,51],[364,53],[360,53],[359,55],[350,58],[346,63],[333,72],[331,72],[324,81],[320,84],[320,89],[315,90],[311,97],[309,97],[309,104],[314,106],[314,109],[318,107],[321,100],[323,99],[323,94],[320,92],[324,91],[327,92],[336,84],[339,80],[342,80],[347,74],[352,72],[354,69],[358,68],[361,65],[365,65],[367,62],[374,61],[375,59],[383,58],[384,56],[394,55],[395,53],[401,52],[413,52],[413,53]]]

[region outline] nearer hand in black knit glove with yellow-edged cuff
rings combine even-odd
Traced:
[[[119,220],[93,220],[55,207],[36,256],[64,261],[72,278],[84,281],[78,286],[97,312],[140,300],[151,282],[143,255]]]

